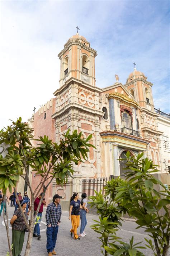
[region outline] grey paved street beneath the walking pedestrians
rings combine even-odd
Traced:
[[[9,219],[13,215],[14,207],[9,207]],[[43,217],[41,222],[41,240],[37,240],[37,238],[33,237],[32,242],[32,248],[31,248],[31,256],[47,256],[46,251],[46,223],[45,223],[45,211],[46,208],[44,208],[43,211]],[[56,243],[56,251],[57,255],[60,256],[97,256],[102,255],[100,253],[100,241],[98,240],[98,234],[95,233],[91,228],[90,225],[94,223],[93,219],[98,219],[98,216],[96,215],[90,215],[87,214],[87,220],[88,224],[86,226],[86,233],[87,236],[81,238],[80,241],[75,241],[73,238],[70,237],[70,228],[71,228],[71,221],[68,219],[69,212],[63,211],[62,212],[62,218],[61,218],[61,224],[60,228],[58,230],[58,237],[57,237],[57,243]],[[144,234],[142,229],[137,229],[136,224],[133,221],[124,221],[122,229],[117,232],[117,235],[119,237],[122,237],[124,242],[129,241],[129,238],[134,236],[134,242],[140,242],[144,241],[144,237],[148,237],[146,234]],[[80,231],[80,227],[78,229]],[[22,251],[22,256],[24,255],[24,249],[27,242],[27,236],[28,234],[25,233],[25,242],[24,247]],[[10,229],[10,237],[11,237],[11,229]],[[6,238],[6,230],[5,226],[3,225],[3,216],[0,217],[0,256],[5,256],[6,252],[8,251],[8,243]],[[147,256],[153,255],[153,253],[146,249],[143,250],[143,253]]]

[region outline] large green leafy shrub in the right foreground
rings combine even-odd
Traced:
[[[117,224],[118,228],[123,212],[127,212],[138,224],[137,228],[144,228],[145,232],[153,239],[146,239],[146,246],[150,248],[154,255],[166,256],[169,248],[170,237],[170,192],[165,188],[160,180],[156,179],[154,172],[157,172],[156,165],[153,165],[148,158],[143,159],[143,153],[137,157],[130,156],[127,152],[126,180],[121,178],[108,181],[106,194],[103,197],[101,192],[93,197],[92,206],[97,208],[100,215],[98,224],[92,228],[101,234],[99,238],[102,246],[111,255],[143,255],[137,248],[145,248],[133,245],[133,237],[130,243],[124,243],[116,237],[116,230],[110,230],[109,225],[103,225],[103,216],[107,221]],[[129,171],[130,170],[130,171]],[[161,191],[155,189],[155,185],[160,185]],[[110,195],[111,202],[108,203],[104,198]],[[110,218],[111,216],[111,218]],[[111,225],[111,224],[110,224]],[[107,236],[107,239],[104,237]],[[112,243],[110,243],[110,239]]]

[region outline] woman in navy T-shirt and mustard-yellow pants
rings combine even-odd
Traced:
[[[70,235],[72,237],[72,233],[74,233],[74,239],[80,240],[77,235],[77,228],[80,223],[80,200],[79,194],[74,193],[70,198],[70,211],[69,211],[69,220],[71,219],[72,229],[70,229]]]

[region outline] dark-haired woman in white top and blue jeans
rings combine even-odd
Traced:
[[[80,209],[80,219],[81,219],[81,226],[80,226],[80,234],[79,237],[85,237],[86,233],[84,232],[85,230],[85,226],[87,225],[87,220],[86,220],[86,213],[89,212],[88,208],[87,208],[87,194],[86,193],[82,193],[81,195],[81,206],[82,209]]]

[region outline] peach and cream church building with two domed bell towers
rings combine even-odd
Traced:
[[[54,193],[69,201],[72,192],[79,192],[82,178],[124,175],[125,163],[119,161],[127,151],[143,152],[159,165],[160,173],[169,174],[170,116],[154,108],[152,83],[134,68],[126,84],[115,82],[103,89],[95,82],[95,57],[90,42],[79,33],[70,37],[58,54],[60,87],[54,98],[44,104],[28,121],[34,137],[48,135],[59,142],[68,129],[77,129],[84,138],[92,134],[88,161],[74,165],[74,179],[61,188],[53,180],[46,193],[47,201]],[[30,169],[32,187],[40,177]]]

